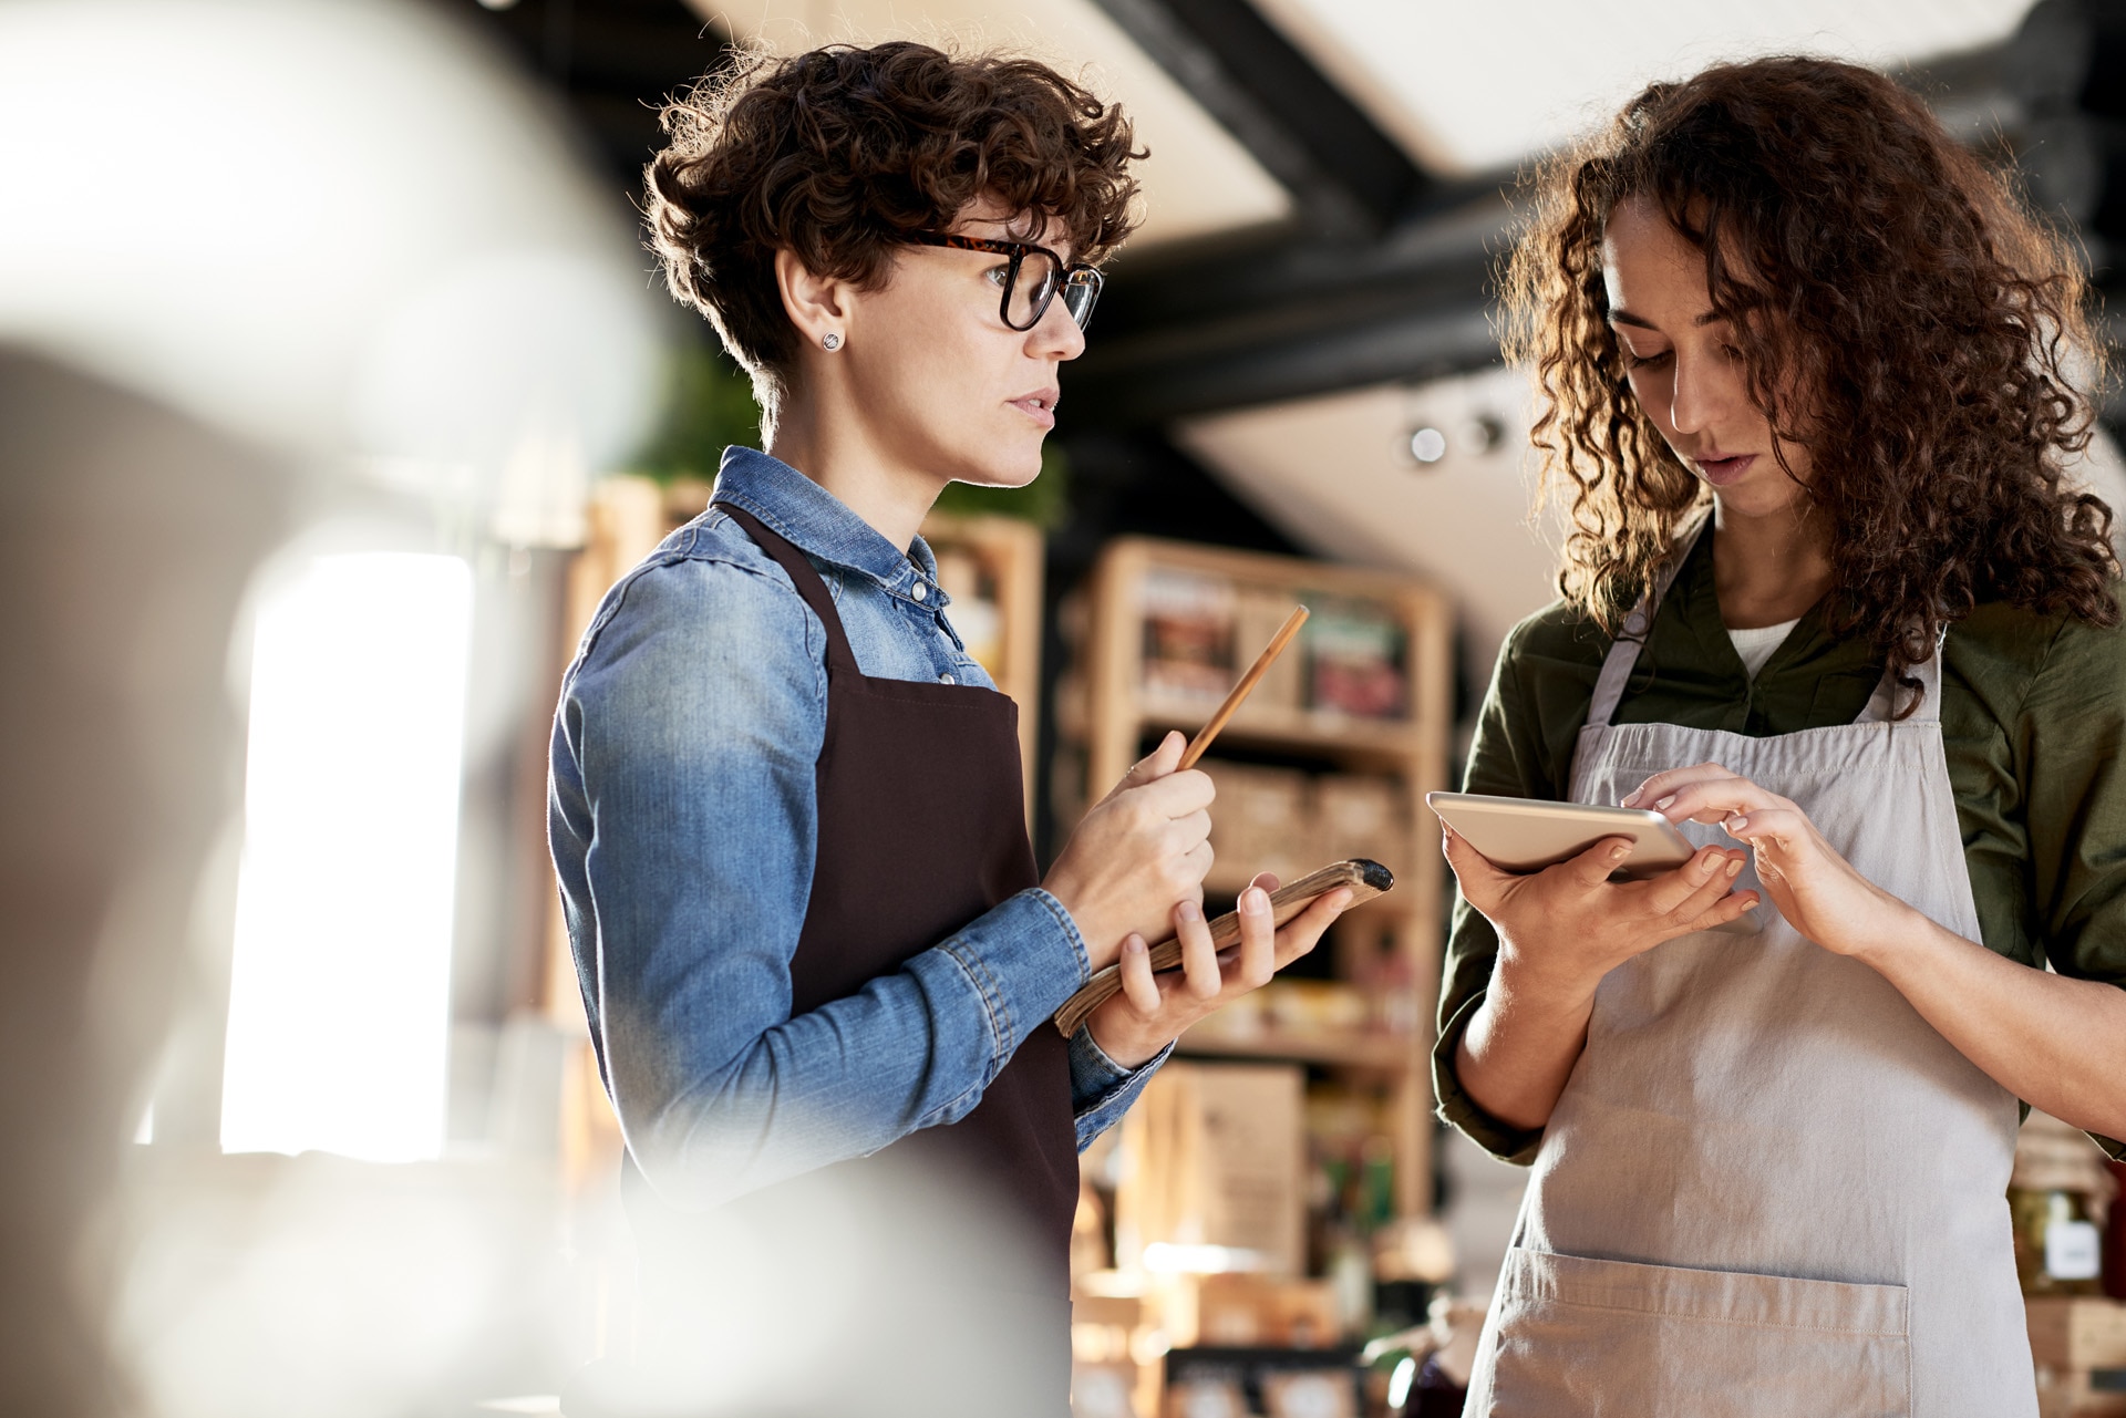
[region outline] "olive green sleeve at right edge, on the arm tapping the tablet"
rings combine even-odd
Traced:
[[[2126,629],[2069,621],[2013,733],[2045,959],[2062,976],[2126,989]],[[2126,1159],[2117,1140],[2096,1142]]]

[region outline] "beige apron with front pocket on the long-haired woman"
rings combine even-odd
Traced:
[[[1888,680],[1858,723],[1779,738],[1609,723],[1680,563],[1603,663],[1573,801],[1722,763],[1801,804],[1884,891],[1977,940],[1939,653],[1901,723]],[[1760,935],[1684,935],[1597,989],[1469,1414],[2037,1412],[2005,1201],[2015,1099],[1879,974],[1809,944],[1769,901],[1756,914]]]

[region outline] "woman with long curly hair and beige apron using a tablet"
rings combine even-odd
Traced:
[[[1516,876],[1446,835],[1437,1091],[1533,1163],[1469,1412],[2035,1412],[2018,1099],[2126,1137],[2083,302],[1845,64],[1654,85],[1539,176],[1507,306],[1563,600],[1507,640],[1467,789],[1699,850]]]

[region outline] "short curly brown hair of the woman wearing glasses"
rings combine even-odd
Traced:
[[[740,53],[663,108],[646,172],[653,249],[672,293],[716,325],[774,419],[797,332],[776,251],[865,287],[893,247],[982,198],[1061,219],[1074,259],[1135,227],[1135,147],[1118,104],[1033,60],[895,40],[793,57]]]

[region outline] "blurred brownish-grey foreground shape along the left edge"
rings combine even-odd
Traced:
[[[0,1412],[121,1409],[106,1208],[187,982],[238,733],[227,644],[266,457],[0,349]]]

